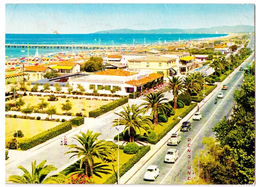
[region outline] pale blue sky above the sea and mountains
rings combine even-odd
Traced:
[[[254,26],[254,4],[6,4],[5,33]]]

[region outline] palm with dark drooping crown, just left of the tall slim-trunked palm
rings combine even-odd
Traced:
[[[158,93],[149,93],[146,95],[146,98],[142,99],[146,102],[143,102],[140,106],[144,106],[145,112],[151,111],[151,117],[153,118],[153,124],[158,125],[158,114],[163,113],[166,116],[167,110],[170,110],[170,107],[164,101],[169,99],[164,98],[164,94],[161,92]]]

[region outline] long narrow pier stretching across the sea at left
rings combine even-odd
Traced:
[[[48,44],[5,44],[6,48],[44,48],[44,49],[72,49],[73,45],[48,45]],[[74,45],[74,49],[127,49],[134,46],[89,46]]]

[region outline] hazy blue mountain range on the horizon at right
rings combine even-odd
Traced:
[[[107,31],[94,32],[93,34],[175,34],[175,33],[239,33],[239,32],[254,32],[254,26],[251,25],[236,25],[236,26],[218,26],[210,28],[195,28],[195,29],[178,29],[178,28],[159,28],[151,30],[132,30],[132,29],[114,29]]]

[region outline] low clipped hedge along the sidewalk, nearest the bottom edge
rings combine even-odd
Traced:
[[[119,147],[120,148],[120,147]],[[150,150],[150,145],[146,146],[140,146],[139,152],[134,155],[131,159],[128,160],[120,169],[119,169],[119,176],[123,176],[124,173],[126,173],[129,169],[132,168],[139,160],[146,155],[147,152]],[[117,176],[114,173],[112,176],[110,176],[103,184],[114,184],[117,182]]]

